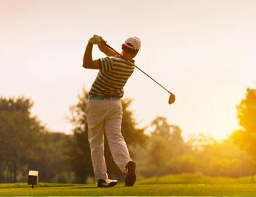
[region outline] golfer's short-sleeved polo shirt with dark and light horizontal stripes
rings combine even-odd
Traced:
[[[91,85],[89,95],[118,97],[124,96],[124,85],[135,66],[122,58],[106,57],[99,59],[99,73]]]

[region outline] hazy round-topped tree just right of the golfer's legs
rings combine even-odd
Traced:
[[[173,161],[189,148],[182,139],[181,129],[177,125],[167,123],[166,117],[156,117],[151,123],[151,128],[153,131],[148,140],[143,163],[147,168],[142,169],[141,173],[146,177],[177,173],[173,168]]]

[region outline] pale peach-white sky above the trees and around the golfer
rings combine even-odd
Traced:
[[[236,104],[256,84],[254,0],[0,0],[0,96],[26,96],[50,130],[71,133],[65,119],[96,71],[83,69],[89,38],[101,35],[121,50],[128,36],[142,40],[138,70],[125,98],[140,125],[157,115],[184,136],[223,139],[238,128]],[[94,58],[104,57],[94,48]]]

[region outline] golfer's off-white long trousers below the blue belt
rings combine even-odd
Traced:
[[[90,99],[86,104],[91,161],[94,166],[95,179],[108,179],[104,157],[104,132],[118,168],[124,171],[127,162],[132,161],[121,134],[122,115],[121,101],[118,100]]]

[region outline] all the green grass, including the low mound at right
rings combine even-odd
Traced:
[[[255,196],[256,184],[250,184],[250,180],[184,174],[141,179],[133,187],[124,187],[122,183],[113,188],[40,183],[32,189],[26,183],[0,184],[0,196]]]

